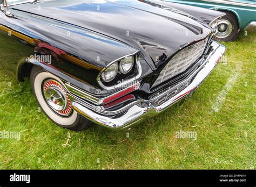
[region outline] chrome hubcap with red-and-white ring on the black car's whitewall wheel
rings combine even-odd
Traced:
[[[46,103],[60,116],[70,116],[72,112],[71,101],[62,84],[55,80],[46,80],[43,83],[43,93]]]

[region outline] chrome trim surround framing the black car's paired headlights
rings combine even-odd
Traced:
[[[123,87],[124,85],[127,85],[127,84],[129,84],[129,83],[131,83],[131,82],[133,82],[133,81],[138,80],[138,78],[140,78],[140,76],[142,76],[142,66],[141,66],[141,64],[140,64],[140,62],[139,62],[139,52],[140,52],[140,51],[136,51],[136,52],[134,52],[134,53],[132,53],[132,54],[125,55],[125,56],[120,57],[119,59],[117,59],[117,60],[115,60],[115,61],[113,61],[113,62],[107,64],[107,66],[106,66],[105,68],[103,68],[102,71],[100,71],[100,73],[99,73],[99,75],[98,75],[98,77],[97,77],[97,82],[98,82],[98,84],[100,85],[100,87],[102,87],[102,88],[104,88],[104,89],[106,89],[106,90],[113,90],[113,89],[117,89],[117,88]],[[103,71],[104,71],[105,69],[107,69],[108,67],[110,67],[113,63],[118,62],[119,60],[122,60],[122,59],[124,59],[124,58],[127,57],[127,56],[132,56],[132,55],[136,55],[136,54],[138,54],[138,55],[136,56],[136,63],[137,63],[137,66],[138,66],[138,68],[139,68],[139,74],[138,74],[137,76],[135,76],[134,78],[131,78],[130,80],[124,81],[123,83],[114,85],[114,86],[112,86],[112,87],[106,87],[106,86],[102,83],[102,81],[100,81],[100,76],[102,75]]]

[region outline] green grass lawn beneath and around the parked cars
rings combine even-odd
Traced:
[[[255,169],[256,34],[224,45],[223,63],[183,105],[129,134],[99,126],[77,133],[38,110],[29,79],[15,78],[31,49],[1,33],[0,131],[21,132],[21,140],[0,139],[0,169]],[[180,130],[197,138],[177,139]]]

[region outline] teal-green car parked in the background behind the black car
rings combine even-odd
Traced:
[[[165,0],[201,8],[225,12],[226,16],[218,22],[216,38],[221,41],[233,41],[240,31],[256,32],[256,0]]]

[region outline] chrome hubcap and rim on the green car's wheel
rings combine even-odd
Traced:
[[[219,20],[217,24],[217,28],[218,28],[218,32],[216,34],[217,38],[226,38],[233,31],[232,23],[226,19]]]

